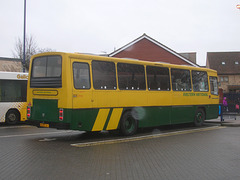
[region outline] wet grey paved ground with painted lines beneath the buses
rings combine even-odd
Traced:
[[[237,122],[239,116],[131,137],[0,124],[0,179],[239,180]]]

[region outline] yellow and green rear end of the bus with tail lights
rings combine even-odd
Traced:
[[[27,118],[31,125],[69,129],[67,98],[72,81],[67,77],[67,56],[64,53],[43,53],[32,57],[27,95]],[[69,77],[71,78],[71,77]],[[68,107],[69,106],[69,107]]]

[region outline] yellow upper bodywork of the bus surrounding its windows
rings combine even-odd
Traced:
[[[43,53],[33,56],[44,55],[62,56],[62,88],[41,88],[33,89],[28,84],[28,104],[32,104],[32,99],[57,99],[58,108],[80,109],[80,108],[116,108],[116,107],[135,107],[135,106],[178,106],[178,105],[196,105],[196,104],[218,104],[218,96],[210,92],[193,91],[150,91],[146,90],[95,90],[92,86],[92,60],[112,61],[115,64],[133,63],[145,66],[160,66],[168,68],[180,68],[188,70],[206,71],[209,76],[217,77],[217,72],[211,69],[198,68],[191,66],[180,66],[172,64],[161,64],[147,61],[137,61],[129,59],[119,59],[103,56],[92,56],[70,53]],[[33,59],[32,58],[32,59]],[[90,67],[91,88],[75,89],[72,77],[72,63],[86,62]],[[31,67],[30,67],[31,69]],[[171,78],[170,78],[171,79]],[[147,83],[146,83],[147,84]],[[171,84],[171,82],[170,82]],[[210,83],[209,83],[210,84]],[[45,92],[44,92],[45,91]],[[57,92],[56,92],[57,91]],[[48,93],[48,95],[45,95]],[[107,111],[107,110],[105,110]],[[103,111],[103,112],[105,112]],[[101,114],[103,113],[101,112]],[[99,114],[99,115],[101,115]],[[106,114],[106,113],[104,113]],[[96,129],[98,129],[96,124]],[[95,127],[94,127],[95,129]]]

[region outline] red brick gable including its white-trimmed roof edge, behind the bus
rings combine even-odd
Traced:
[[[189,59],[146,34],[143,34],[122,48],[110,53],[109,56],[198,67],[194,62],[191,62]]]

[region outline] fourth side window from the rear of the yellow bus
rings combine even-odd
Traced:
[[[149,90],[170,90],[170,77],[168,68],[147,66],[147,81]]]

